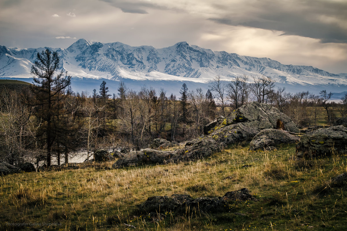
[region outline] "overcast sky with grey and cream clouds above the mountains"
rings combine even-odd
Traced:
[[[0,0],[0,45],[189,44],[347,73],[347,0]]]

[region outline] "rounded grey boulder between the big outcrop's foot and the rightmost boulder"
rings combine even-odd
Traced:
[[[260,131],[253,137],[249,143],[249,149],[252,151],[258,149],[266,150],[267,147],[297,143],[299,140],[298,136],[291,135],[286,131],[269,128]]]

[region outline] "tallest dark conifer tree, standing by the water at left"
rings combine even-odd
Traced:
[[[58,53],[46,49],[37,53],[31,67],[34,75],[32,91],[34,93],[37,119],[43,121],[38,129],[37,137],[46,150],[47,166],[51,165],[51,151],[57,137],[57,118],[61,114],[60,104],[65,89],[71,84],[71,77],[64,73]]]

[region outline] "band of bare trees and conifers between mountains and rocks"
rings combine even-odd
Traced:
[[[347,114],[347,94],[340,103],[331,102],[332,94],[325,90],[319,95],[291,94],[265,76],[243,75],[227,83],[217,76],[207,92],[184,83],[179,96],[146,85],[134,91],[124,82],[112,96],[105,81],[99,93],[96,89],[73,92],[60,64],[56,53],[43,51],[32,68],[31,89],[0,91],[1,160],[16,164],[31,158],[50,166],[55,157],[60,165],[81,148],[90,156],[108,146],[140,150],[155,138],[192,139],[202,135],[203,127],[215,117],[249,101],[271,104],[301,126],[316,125],[320,108],[327,124]]]

